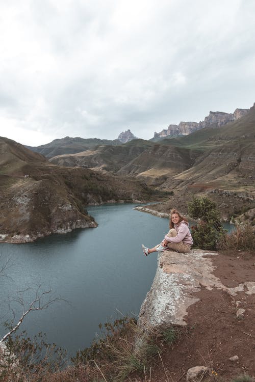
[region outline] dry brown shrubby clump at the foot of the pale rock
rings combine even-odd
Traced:
[[[100,338],[71,359],[77,367],[86,365],[88,378],[100,370],[107,380],[120,382],[131,373],[143,373],[152,358],[159,354],[160,348],[149,336],[136,350],[139,329],[134,318],[124,317],[100,324],[99,328],[102,330]]]

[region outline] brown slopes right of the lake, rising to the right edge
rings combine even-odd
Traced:
[[[170,192],[173,195],[167,201],[151,206],[160,212],[177,206],[187,213],[187,202],[194,195],[207,195],[217,202],[224,221],[251,210],[247,223],[254,225],[255,108],[237,111],[240,113],[236,112],[236,118],[232,116],[224,125],[221,125],[224,113],[218,113],[220,126],[202,128],[182,137],[99,145],[49,160],[56,165],[140,179]]]

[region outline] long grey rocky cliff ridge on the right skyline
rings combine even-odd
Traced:
[[[169,125],[167,129],[161,132],[154,133],[154,138],[162,137],[175,137],[176,135],[188,135],[194,131],[207,128],[207,127],[221,127],[236,121],[248,113],[249,109],[237,108],[235,112],[223,113],[223,112],[210,112],[204,121],[197,122],[180,122],[179,125]]]

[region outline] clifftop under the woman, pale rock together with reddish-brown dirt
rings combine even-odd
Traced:
[[[196,366],[220,380],[255,375],[254,255],[202,250],[159,255],[138,324],[146,334],[174,328],[176,340],[164,348],[165,371],[156,366],[151,380],[164,381],[167,373],[167,380],[184,381]]]

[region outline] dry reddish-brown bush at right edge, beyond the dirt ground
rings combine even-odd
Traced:
[[[218,242],[219,250],[255,250],[255,234],[250,225],[237,227],[236,231],[223,235]]]

